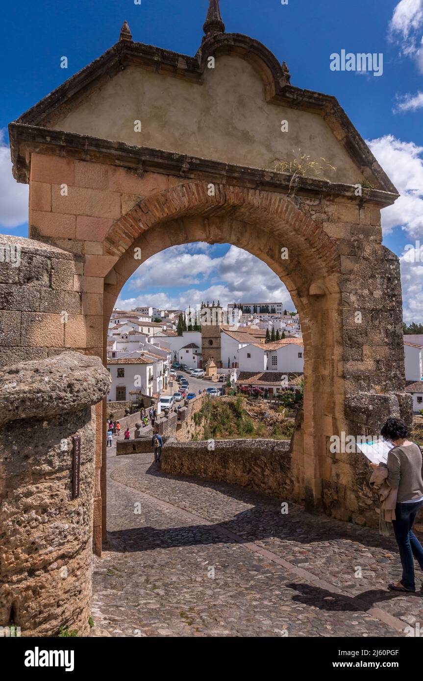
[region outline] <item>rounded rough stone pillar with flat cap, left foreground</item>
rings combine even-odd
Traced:
[[[63,353],[0,372],[0,625],[89,631],[98,358]],[[72,498],[73,441],[80,495]]]

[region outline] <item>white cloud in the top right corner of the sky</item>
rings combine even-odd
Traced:
[[[401,0],[390,20],[389,34],[400,46],[401,54],[416,59],[423,70],[423,0]]]

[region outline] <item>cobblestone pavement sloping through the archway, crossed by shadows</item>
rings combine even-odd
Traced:
[[[420,594],[386,590],[394,540],[163,474],[151,454],[109,450],[108,530],[92,615],[112,636],[398,637],[423,622]]]

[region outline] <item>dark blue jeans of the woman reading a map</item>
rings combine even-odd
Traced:
[[[409,591],[416,590],[414,581],[414,560],[416,558],[423,570],[423,546],[414,535],[412,527],[423,501],[409,504],[397,504],[395,508],[396,520],[392,522],[396,543],[398,544],[401,564],[403,565],[403,578],[401,584]]]

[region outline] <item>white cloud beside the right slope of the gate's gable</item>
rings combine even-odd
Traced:
[[[423,234],[423,146],[401,142],[393,135],[368,144],[401,193],[393,206],[381,212],[383,232],[389,234],[394,227],[402,227],[411,238],[419,238]]]

